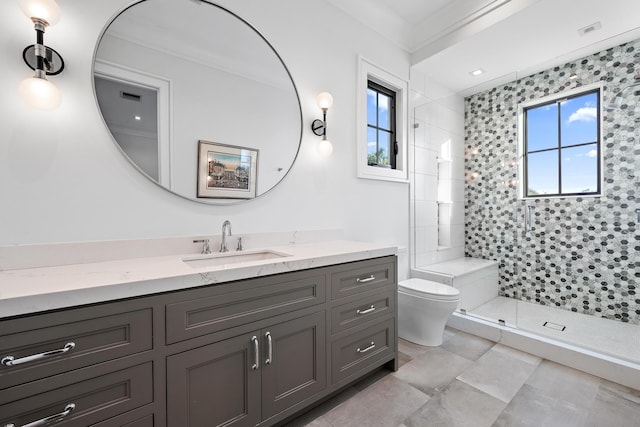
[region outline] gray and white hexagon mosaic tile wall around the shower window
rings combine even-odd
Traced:
[[[604,110],[602,197],[520,200],[516,133],[518,103],[596,82],[606,101],[637,69],[640,40],[465,99],[465,254],[500,262],[501,295],[640,323],[640,87]]]

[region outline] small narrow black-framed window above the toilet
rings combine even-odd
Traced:
[[[367,164],[396,168],[396,93],[382,85],[367,84]]]

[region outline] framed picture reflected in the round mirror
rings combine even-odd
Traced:
[[[258,150],[198,141],[198,197],[256,197]]]

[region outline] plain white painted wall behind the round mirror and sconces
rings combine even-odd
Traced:
[[[51,78],[63,103],[41,112],[18,96],[20,81],[31,75],[21,52],[35,32],[17,1],[0,2],[0,245],[213,235],[230,219],[237,234],[342,228],[347,238],[408,246],[408,186],[357,179],[354,145],[357,56],[408,78],[405,52],[323,1],[221,0],[287,64],[301,97],[304,135],[292,171],[270,193],[235,206],[202,205],[141,176],[102,123],[91,86],[94,47],[128,3],[59,2],[62,18],[45,42],[66,62]],[[329,159],[317,157],[318,138],[309,129],[320,116],[315,96],[321,91],[335,100]]]

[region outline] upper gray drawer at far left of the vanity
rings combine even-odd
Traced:
[[[0,322],[0,390],[152,348],[151,308],[100,311],[105,313],[96,307]]]

